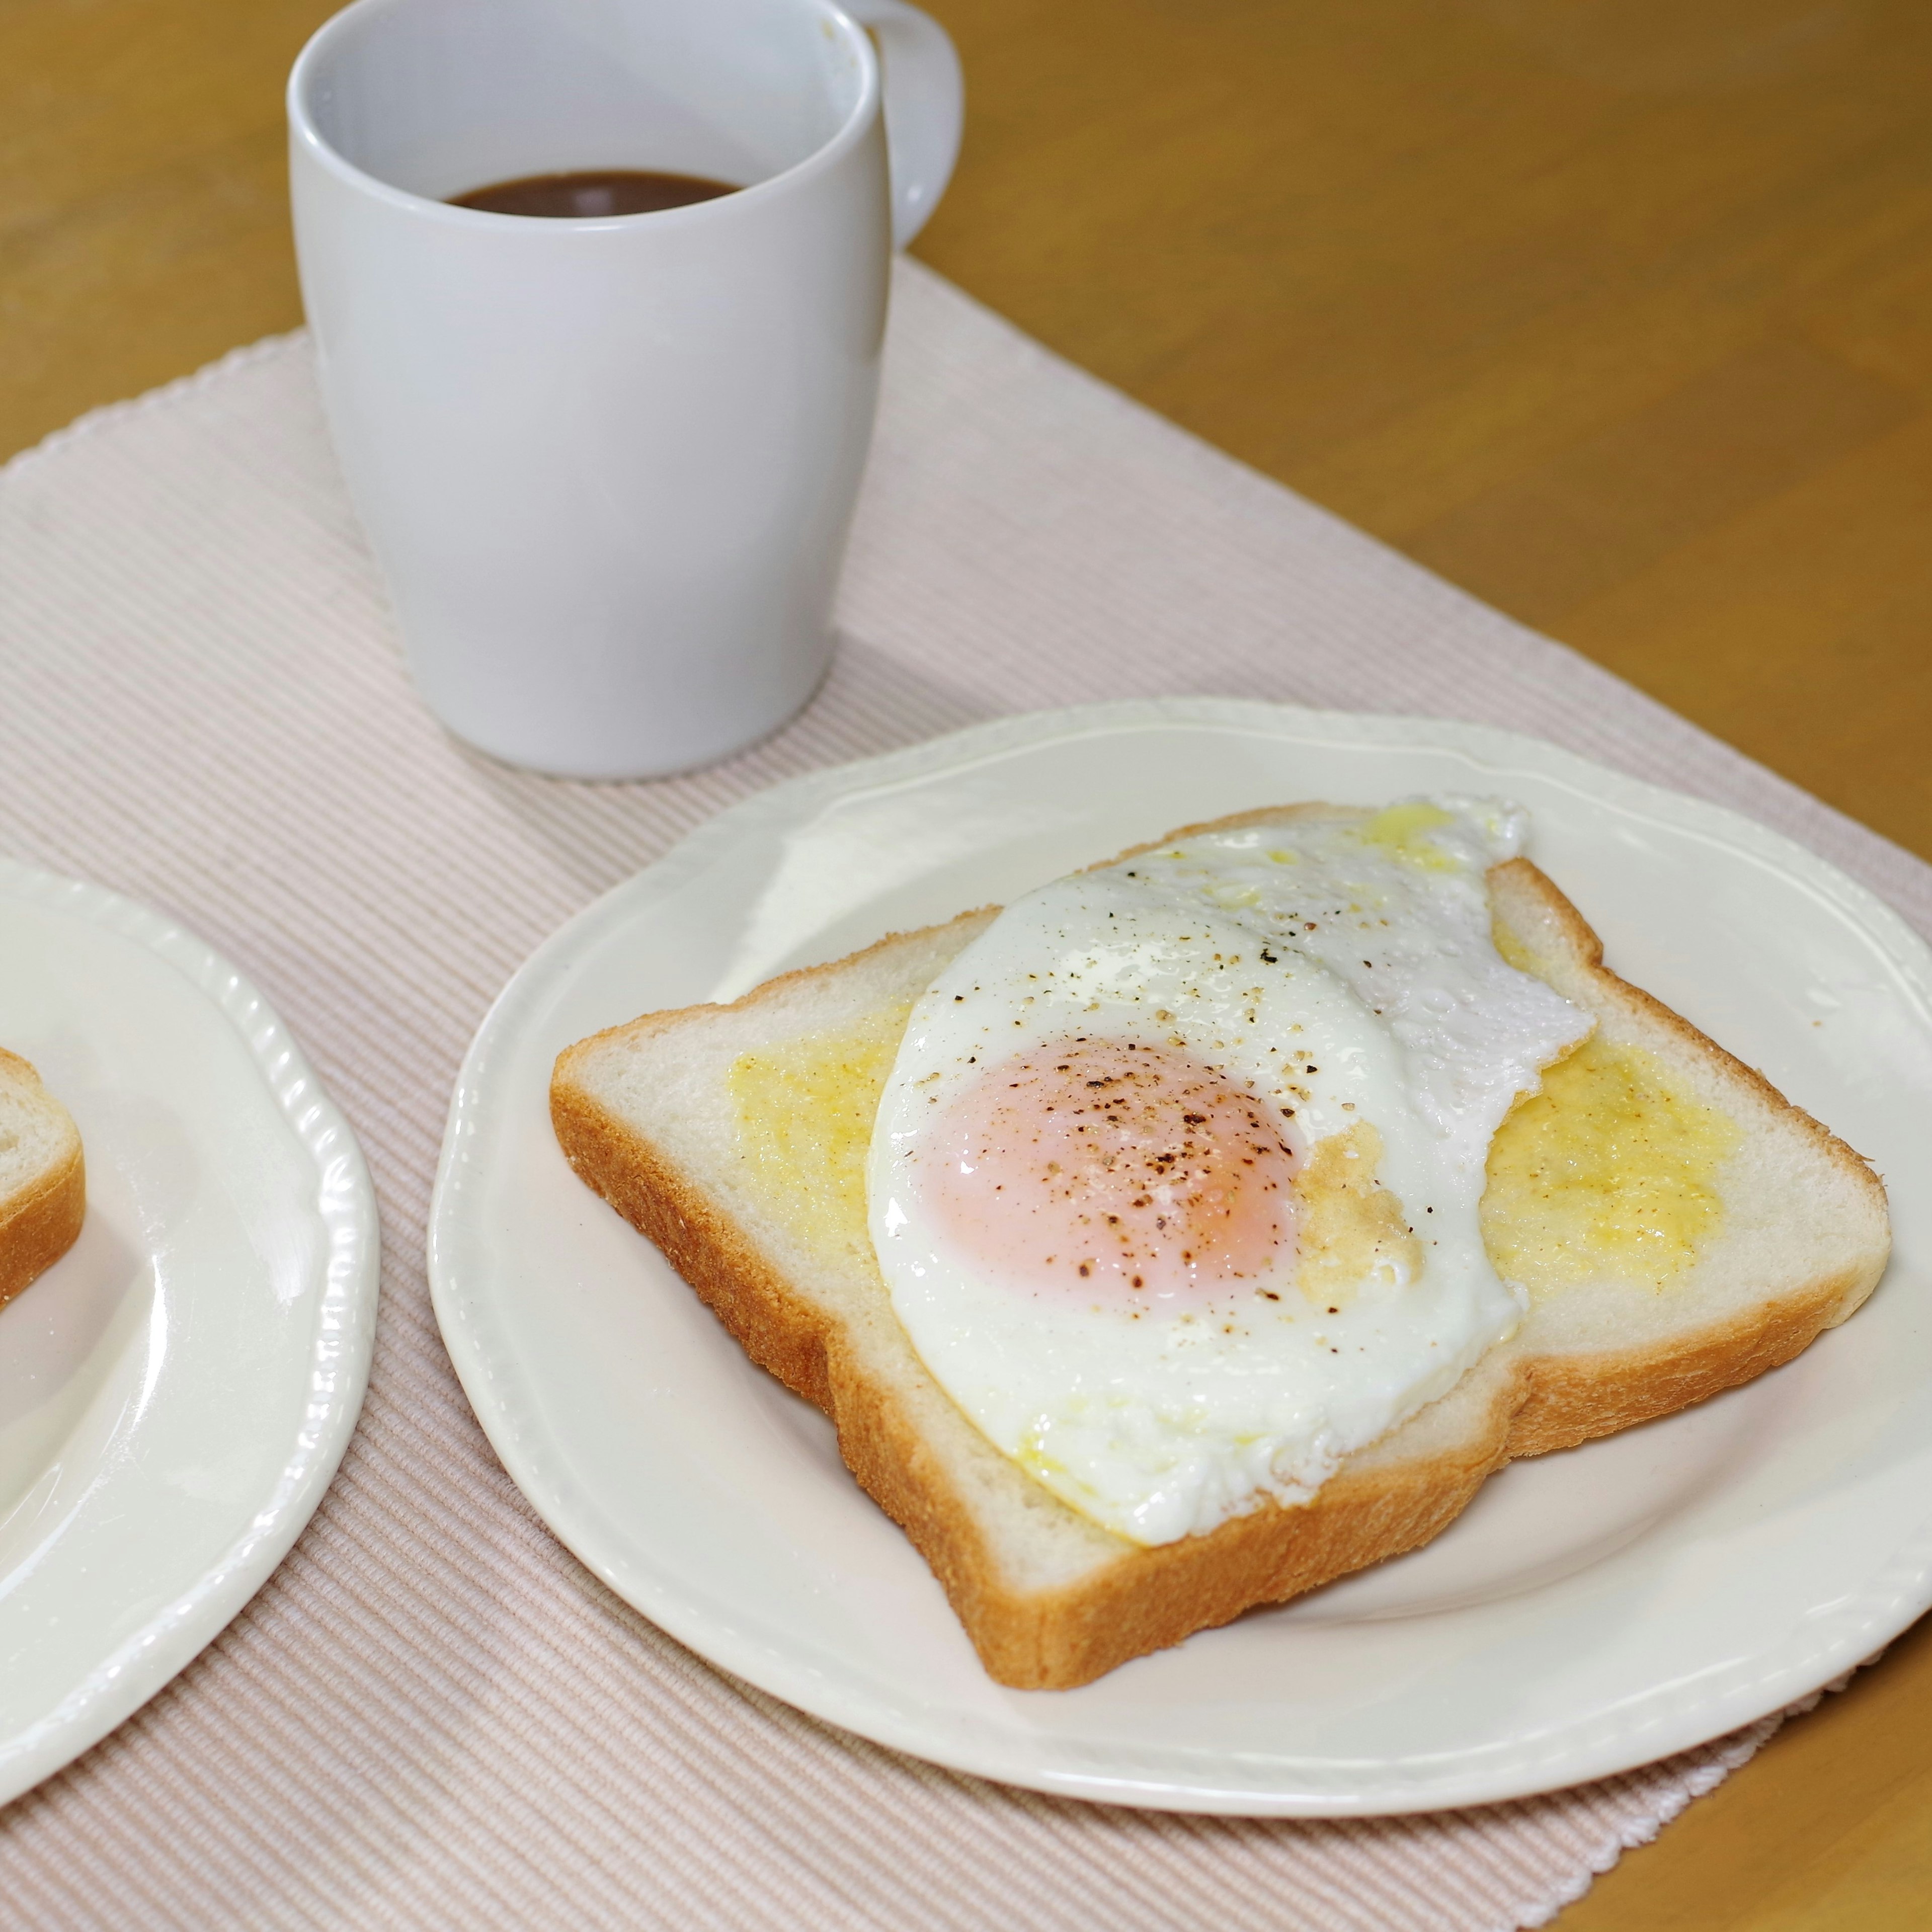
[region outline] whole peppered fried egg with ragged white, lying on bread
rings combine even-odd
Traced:
[[[1138,1544],[1312,1497],[1522,1318],[1490,1138],[1590,1020],[1490,935],[1493,800],[1316,808],[1020,898],[914,1007],[867,1213],[980,1432]]]

